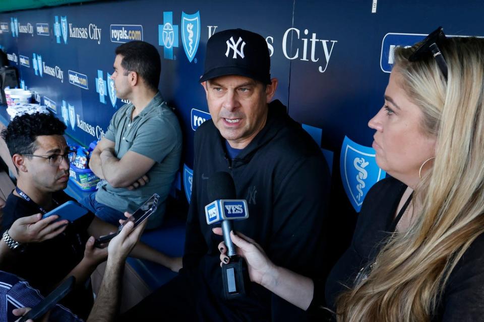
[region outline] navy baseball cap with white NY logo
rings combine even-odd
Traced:
[[[207,42],[200,83],[218,76],[246,76],[271,84],[271,58],[264,37],[243,29],[215,33]]]

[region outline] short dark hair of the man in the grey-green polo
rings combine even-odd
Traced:
[[[161,60],[158,50],[145,41],[130,41],[116,48],[116,55],[123,56],[121,66],[128,71],[136,71],[152,90],[158,90],[161,73]]]

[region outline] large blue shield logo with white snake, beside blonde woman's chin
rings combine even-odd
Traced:
[[[340,172],[344,191],[356,212],[370,188],[385,178],[385,171],[378,168],[375,150],[344,137],[341,147]]]

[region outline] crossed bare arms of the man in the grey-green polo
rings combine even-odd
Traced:
[[[114,142],[102,138],[92,151],[89,168],[114,188],[138,188],[148,182],[146,173],[155,161],[140,153],[128,151],[122,158],[114,153]]]

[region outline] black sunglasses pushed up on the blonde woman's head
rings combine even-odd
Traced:
[[[417,61],[422,57],[432,54],[434,56],[440,71],[447,81],[447,62],[445,61],[444,55],[439,49],[439,44],[442,47],[442,43],[447,39],[444,34],[442,27],[437,28],[435,31],[431,32],[425,39],[422,40],[420,46],[413,52],[413,54],[408,57],[410,61]]]

